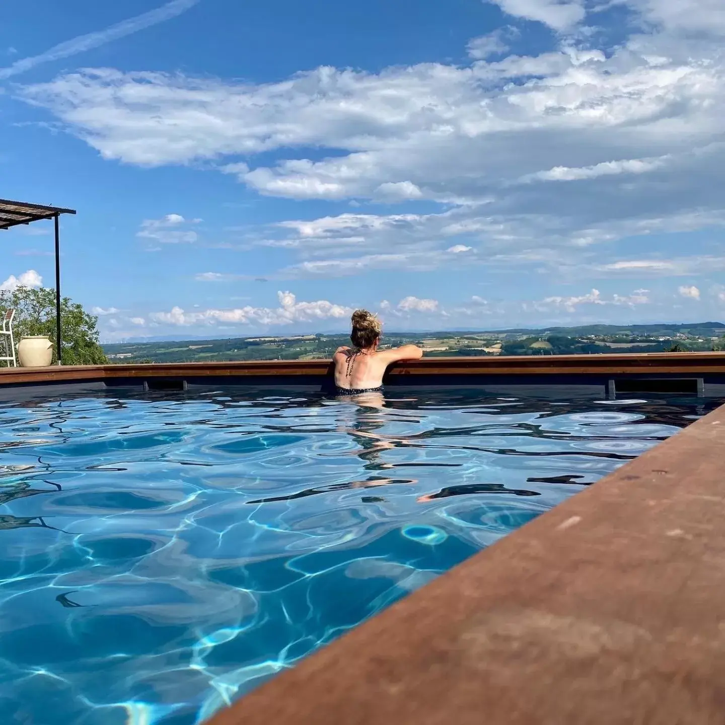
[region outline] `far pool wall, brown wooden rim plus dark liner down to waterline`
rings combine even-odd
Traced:
[[[0,370],[0,397],[32,386],[79,384],[119,391],[240,385],[332,392],[331,372],[328,360],[5,368]],[[395,388],[476,386],[490,394],[526,397],[616,399],[646,393],[717,398],[725,396],[725,354],[423,358],[393,365],[384,382]]]

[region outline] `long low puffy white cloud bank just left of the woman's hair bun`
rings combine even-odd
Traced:
[[[335,305],[324,299],[317,302],[297,302],[291,292],[280,291],[277,296],[279,307],[275,308],[247,305],[232,310],[186,312],[181,307],[173,307],[169,312],[152,312],[149,318],[155,323],[172,326],[274,326],[347,318],[353,311],[352,307]]]

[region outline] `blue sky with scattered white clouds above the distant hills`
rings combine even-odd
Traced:
[[[0,197],[78,210],[107,341],[723,320],[724,41],[721,0],[28,0]]]

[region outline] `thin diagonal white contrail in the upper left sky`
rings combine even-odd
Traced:
[[[149,12],[136,15],[136,17],[117,22],[105,30],[97,30],[95,33],[88,33],[85,36],[78,36],[78,38],[65,41],[65,43],[59,43],[57,46],[53,46],[50,50],[46,50],[40,55],[22,58],[6,68],[0,68],[0,80],[5,80],[18,73],[24,73],[26,70],[36,67],[36,65],[41,65],[41,63],[49,63],[54,60],[67,58],[87,50],[98,48],[106,43],[118,40],[118,38],[125,38],[125,36],[137,33],[138,30],[150,28],[159,22],[164,22],[165,20],[170,20],[172,17],[181,15],[181,13],[186,12],[198,4],[199,1],[171,0],[171,2],[167,2],[162,7],[157,7],[154,10],[149,10]]]

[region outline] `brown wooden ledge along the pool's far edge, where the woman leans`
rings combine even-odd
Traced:
[[[0,368],[0,385],[103,381],[120,378],[324,378],[329,360],[265,360],[239,363],[156,363],[153,365],[78,365],[51,368]],[[620,355],[532,355],[515,357],[424,357],[390,368],[402,376],[573,376],[573,375],[724,375],[725,352],[629,353]]]

